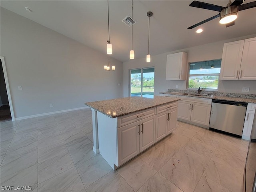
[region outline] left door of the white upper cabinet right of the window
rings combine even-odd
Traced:
[[[224,44],[220,80],[238,80],[243,47],[244,40]]]

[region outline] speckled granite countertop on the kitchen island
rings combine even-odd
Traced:
[[[85,105],[105,114],[110,118],[116,118],[163,104],[172,103],[178,100],[180,99],[162,96],[154,96],[154,98],[125,97],[103,101],[87,102],[85,103]]]

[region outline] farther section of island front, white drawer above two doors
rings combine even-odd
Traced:
[[[156,142],[176,129],[178,103],[156,108]]]

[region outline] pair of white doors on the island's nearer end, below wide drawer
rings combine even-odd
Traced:
[[[118,128],[118,165],[152,146],[155,143],[155,128],[155,115]]]

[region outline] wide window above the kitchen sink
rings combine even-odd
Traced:
[[[218,89],[221,59],[193,62],[189,66],[188,88]]]

